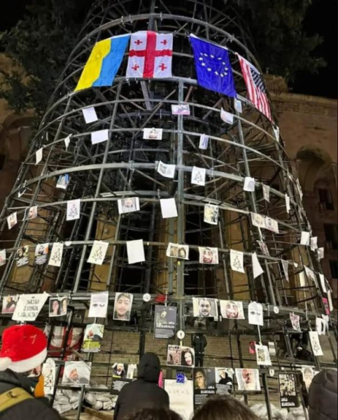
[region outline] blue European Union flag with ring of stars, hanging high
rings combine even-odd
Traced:
[[[227,48],[195,35],[190,35],[190,43],[194,51],[198,84],[228,97],[237,97]]]

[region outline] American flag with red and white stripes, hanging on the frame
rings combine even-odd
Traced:
[[[269,99],[267,99],[267,90],[265,89],[265,84],[260,72],[253,64],[249,63],[248,60],[241,57],[241,55],[238,57],[239,62],[241,63],[241,71],[246,82],[246,88],[248,89],[249,99],[261,113],[272,121]]]

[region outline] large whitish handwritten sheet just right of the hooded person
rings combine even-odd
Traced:
[[[190,420],[194,412],[193,381],[178,384],[176,379],[165,379],[164,390],[169,395],[170,409],[183,420]]]

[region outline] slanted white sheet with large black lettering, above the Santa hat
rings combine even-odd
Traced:
[[[35,321],[48,297],[48,293],[20,295],[12,316],[13,321]]]

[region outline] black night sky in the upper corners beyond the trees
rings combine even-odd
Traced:
[[[31,1],[10,0],[1,5],[0,31],[15,25]],[[315,75],[299,73],[292,91],[337,98],[337,0],[312,0],[304,27],[309,35],[318,33],[323,36],[324,42],[314,55],[323,57],[328,66]]]

